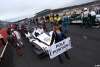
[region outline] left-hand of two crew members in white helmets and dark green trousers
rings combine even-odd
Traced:
[[[89,18],[89,11],[87,10],[87,8],[84,8],[83,22],[81,24],[81,28],[83,27],[83,25],[85,25],[85,28],[88,27],[88,18]]]

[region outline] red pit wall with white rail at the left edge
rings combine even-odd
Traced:
[[[7,43],[7,28],[4,28],[3,30],[0,30],[0,34],[3,36],[4,41]],[[2,41],[0,41],[0,59],[3,57],[3,54],[5,52],[7,45],[2,44]]]

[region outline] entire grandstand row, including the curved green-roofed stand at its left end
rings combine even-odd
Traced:
[[[80,4],[80,5],[74,5],[74,6],[70,6],[70,7],[64,7],[64,8],[58,8],[58,9],[45,9],[42,10],[38,13],[36,13],[35,17],[41,17],[41,16],[45,16],[47,14],[60,14],[63,15],[65,12],[67,15],[69,15],[70,10],[76,9],[78,12],[80,12],[84,7],[90,8],[91,5],[94,5],[94,7],[97,7],[100,4],[100,0],[94,0],[92,2],[88,2],[88,3],[84,3],[84,4]]]

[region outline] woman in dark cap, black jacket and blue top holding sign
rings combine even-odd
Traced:
[[[53,44],[54,40],[55,40],[55,43],[58,43],[60,41],[62,41],[63,39],[66,39],[67,37],[64,35],[64,33],[60,30],[60,24],[58,22],[54,22],[54,26],[53,26],[53,34],[52,34],[52,39],[51,39],[51,43],[50,45]],[[65,56],[69,58],[67,52],[64,52]],[[60,55],[58,56],[59,57],[59,60],[61,63],[63,63]]]

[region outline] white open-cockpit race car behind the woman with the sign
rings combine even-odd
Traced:
[[[43,29],[31,28],[26,35],[30,45],[39,57],[48,55],[52,32],[45,33]]]

